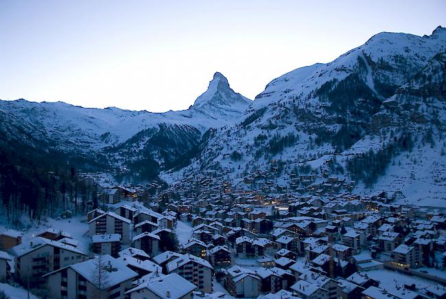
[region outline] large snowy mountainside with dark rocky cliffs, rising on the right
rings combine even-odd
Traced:
[[[445,51],[443,27],[430,36],[383,32],[331,63],[290,71],[256,96],[241,122],[214,131],[200,156],[166,179],[207,170],[247,188],[270,190],[275,181],[318,194],[385,190],[446,206],[439,183],[446,178]],[[409,175],[399,172],[409,165]],[[303,179],[309,173],[314,181]],[[414,184],[432,195],[413,195]]]

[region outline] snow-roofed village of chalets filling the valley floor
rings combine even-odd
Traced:
[[[41,298],[446,298],[443,211],[334,178],[296,190],[312,179],[95,184],[86,215],[0,231],[0,282]]]

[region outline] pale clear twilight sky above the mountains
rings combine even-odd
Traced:
[[[446,1],[0,0],[0,99],[187,109],[215,71],[254,99],[379,32],[431,34]]]

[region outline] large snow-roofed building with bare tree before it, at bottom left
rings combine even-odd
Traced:
[[[138,274],[109,255],[62,267],[44,276],[49,298],[126,298]]]

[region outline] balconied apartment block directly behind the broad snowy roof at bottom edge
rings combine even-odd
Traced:
[[[213,267],[208,261],[191,254],[180,256],[166,265],[167,273],[176,273],[198,287],[199,291],[212,291]]]

